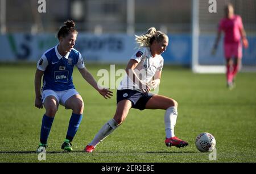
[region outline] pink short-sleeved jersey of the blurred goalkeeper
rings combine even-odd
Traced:
[[[237,43],[241,40],[240,30],[243,28],[240,15],[233,15],[231,19],[222,18],[218,26],[219,31],[224,31],[224,43]]]

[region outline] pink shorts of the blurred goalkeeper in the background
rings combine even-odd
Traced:
[[[238,57],[242,59],[242,44],[241,42],[237,43],[224,43],[224,52],[226,59]]]

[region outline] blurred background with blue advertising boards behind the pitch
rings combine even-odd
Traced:
[[[224,6],[231,2],[242,16],[250,47],[243,51],[243,65],[256,66],[256,1],[216,0],[216,13],[208,0],[0,0],[0,61],[36,62],[57,44],[56,34],[65,20],[76,22],[75,48],[87,62],[127,63],[135,52],[134,34],[149,27],[166,32],[170,45],[163,53],[166,64],[222,65],[222,44],[210,55]],[[42,5],[46,6],[43,13]],[[195,23],[197,23],[196,28]],[[193,25],[194,24],[194,25]],[[193,35],[197,33],[198,35]],[[196,30],[196,32],[195,32]],[[197,40],[199,47],[193,48]],[[222,42],[221,42],[222,43]],[[193,52],[199,53],[198,56]],[[193,58],[192,58],[193,57]]]

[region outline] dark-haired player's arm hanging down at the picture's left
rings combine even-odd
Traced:
[[[35,73],[35,107],[39,109],[43,108],[43,102],[41,100],[41,80],[44,72],[36,69]]]

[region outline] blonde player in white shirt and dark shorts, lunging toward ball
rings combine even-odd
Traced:
[[[117,90],[117,110],[114,118],[110,119],[85,147],[85,152],[92,152],[94,148],[111,134],[127,117],[131,107],[143,109],[163,109],[166,131],[166,146],[184,147],[188,143],[174,135],[177,119],[177,102],[172,98],[150,94],[160,84],[163,68],[163,57],[166,51],[168,36],[154,27],[146,34],[136,36],[139,49],[131,57],[126,67],[126,76]],[[141,78],[140,78],[141,77]]]

